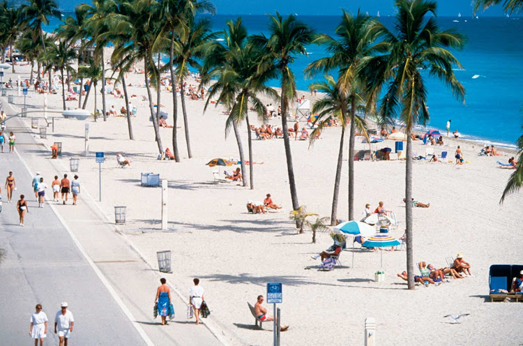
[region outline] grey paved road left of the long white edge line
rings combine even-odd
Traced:
[[[16,126],[17,121],[12,125]],[[29,133],[16,128],[20,145],[31,144]],[[17,191],[6,203],[5,179],[13,171]],[[45,177],[50,185],[50,177]],[[49,205],[38,208],[31,189],[31,176],[8,146],[0,153],[3,209],[0,213],[0,345],[32,345],[29,320],[36,303],[43,305],[48,329],[45,345],[58,345],[53,333],[54,315],[67,301],[75,317],[69,345],[146,345],[130,320],[109,294]],[[51,194],[49,188],[46,191]],[[19,225],[16,201],[26,195],[29,214]]]

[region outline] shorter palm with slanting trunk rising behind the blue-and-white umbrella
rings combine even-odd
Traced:
[[[314,103],[312,106],[312,112],[318,113],[314,123],[318,124],[318,127],[312,131],[310,136],[311,144],[316,139],[316,134],[318,131],[323,130],[326,122],[329,118],[334,117],[342,125],[342,134],[340,137],[340,151],[338,153],[338,164],[336,165],[336,176],[334,181],[334,195],[333,195],[333,206],[331,209],[331,226],[336,225],[336,220],[338,220],[338,195],[340,194],[340,181],[342,175],[342,160],[343,160],[343,148],[344,148],[344,137],[345,137],[345,127],[347,126],[347,116],[349,112],[353,111],[353,106],[351,105],[351,98],[353,96],[353,90],[349,91],[349,94],[340,92],[339,80],[338,83],[334,80],[334,77],[327,75],[326,82],[314,83],[310,86],[310,89],[316,89],[319,93],[324,93],[324,97]],[[348,96],[348,97],[347,97]],[[365,100],[358,94],[354,93],[354,107],[364,108],[361,106],[365,104]],[[357,101],[357,102],[356,102]],[[355,123],[355,127],[365,135],[367,135],[367,130],[365,126],[365,120],[361,119],[360,116],[354,114],[354,120],[351,120],[351,123]],[[352,148],[349,148],[351,150]],[[354,159],[353,159],[354,160]],[[350,165],[349,165],[350,167]],[[351,174],[349,173],[349,176]],[[349,202],[350,202],[350,184],[349,184]],[[349,216],[350,218],[350,216]]]

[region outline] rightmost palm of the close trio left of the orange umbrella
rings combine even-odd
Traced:
[[[185,75],[187,75],[189,71],[189,66],[198,69],[201,68],[198,60],[204,58],[205,47],[209,45],[215,34],[211,33],[211,22],[209,20],[195,20],[195,18],[192,17],[188,17],[187,20],[187,27],[181,28],[176,41],[172,43],[174,44],[174,47],[172,47],[174,51],[172,63],[176,64],[175,80],[180,86],[181,110],[183,112],[183,127],[185,128],[187,153],[189,158],[192,158],[183,84]],[[176,124],[174,126],[176,126]]]

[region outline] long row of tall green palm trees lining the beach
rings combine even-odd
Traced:
[[[486,6],[489,1],[482,1]],[[490,1],[496,2],[496,1]],[[500,2],[500,1],[497,1]],[[509,1],[510,2],[510,1]],[[212,32],[211,22],[199,14],[215,13],[213,3],[207,0],[93,0],[81,4],[73,16],[62,19],[54,36],[44,33],[42,27],[50,17],[60,17],[55,0],[29,0],[20,8],[0,5],[1,50],[13,42],[31,63],[36,61],[38,78],[40,68],[51,75],[59,71],[61,80],[67,76],[90,80],[86,100],[91,93],[95,97],[98,82],[102,85],[102,111],[105,119],[106,68],[111,78],[121,83],[126,103],[128,95],[125,76],[138,62],[144,63],[144,83],[149,96],[149,109],[153,121],[154,137],[158,151],[163,151],[158,119],[160,107],[160,75],[170,73],[174,126],[172,147],[176,161],[180,160],[178,134],[178,93],[180,89],[181,112],[185,130],[188,157],[192,157],[188,128],[188,112],[185,107],[183,84],[189,68],[202,74],[200,87],[209,86],[205,109],[211,100],[225,105],[227,117],[225,135],[232,128],[238,143],[243,175],[246,175],[240,126],[245,123],[248,133],[248,160],[254,162],[250,131],[250,112],[257,119],[266,121],[266,109],[260,96],[279,101],[282,110],[282,134],[287,160],[287,174],[291,194],[293,219],[303,230],[309,225],[324,230],[327,218],[316,223],[305,223],[300,216],[303,207],[298,202],[294,178],[287,114],[291,100],[296,98],[296,75],[291,70],[295,59],[308,54],[308,45],[321,45],[328,55],[313,61],[305,69],[305,75],[324,80],[311,84],[323,95],[313,107],[317,112],[315,122],[321,130],[329,118],[338,119],[342,125],[338,161],[331,209],[331,223],[338,220],[338,199],[342,176],[342,158],[345,133],[349,132],[349,210],[348,219],[354,219],[354,144],[356,130],[366,135],[365,116],[373,114],[379,123],[391,123],[399,119],[407,132],[406,190],[407,201],[412,195],[411,130],[417,123],[426,123],[429,113],[426,107],[427,88],[425,79],[435,77],[451,89],[458,100],[464,100],[465,91],[457,81],[453,67],[461,67],[450,49],[460,50],[465,38],[453,30],[441,30],[435,19],[436,2],[430,0],[397,0],[394,29],[387,29],[377,18],[352,15],[342,11],[340,23],[333,37],[318,34],[312,27],[294,15],[282,17],[279,13],[268,15],[268,34],[249,35],[241,18],[229,21],[222,32]],[[517,6],[511,8],[517,9]],[[107,63],[103,47],[114,44],[114,51]],[[12,48],[10,51],[13,52]],[[88,54],[89,53],[89,54]],[[92,53],[92,57],[91,57]],[[4,54],[3,54],[4,55]],[[2,55],[2,56],[3,56]],[[169,57],[169,63],[160,66],[161,57]],[[71,66],[76,62],[78,68]],[[14,66],[13,66],[14,70]],[[32,71],[32,70],[31,70]],[[65,73],[65,75],[64,75]],[[277,79],[278,93],[268,87],[270,80]],[[62,83],[63,107],[65,109],[65,82]],[[156,95],[153,95],[156,91]],[[79,105],[82,104],[80,96]],[[130,110],[127,110],[128,112]],[[95,117],[96,119],[96,117]],[[128,131],[133,139],[132,123],[128,114]],[[349,128],[347,129],[347,126]],[[313,144],[316,136],[311,136]],[[250,188],[254,188],[254,167],[250,165]],[[407,208],[407,271],[409,288],[414,288],[412,261],[412,208]],[[315,232],[314,232],[315,233]]]

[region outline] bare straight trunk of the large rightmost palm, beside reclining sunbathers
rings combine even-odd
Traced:
[[[407,227],[407,285],[414,289],[414,255],[412,253],[412,138],[407,127],[407,164],[405,165],[405,218]]]

